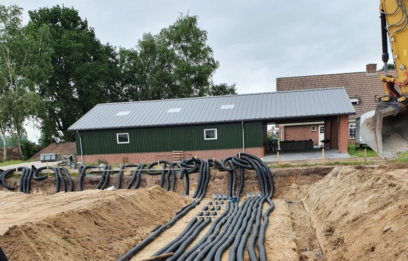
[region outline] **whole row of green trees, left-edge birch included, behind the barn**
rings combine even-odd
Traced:
[[[29,11],[25,26],[21,14],[16,5],[0,6],[0,131],[5,135],[21,137],[23,122],[35,117],[46,146],[73,140],[68,127],[97,103],[236,93],[235,84],[214,84],[219,63],[196,16],[181,15],[159,34],[144,34],[135,48],[125,49],[101,44],[73,8]]]

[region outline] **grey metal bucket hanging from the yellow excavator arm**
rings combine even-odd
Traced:
[[[360,127],[361,137],[383,159],[408,151],[408,113],[406,105],[379,102],[374,116]]]

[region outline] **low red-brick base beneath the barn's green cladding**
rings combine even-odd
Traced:
[[[252,154],[259,158],[263,158],[265,155],[265,148],[245,148],[245,153]],[[242,152],[242,149],[227,149],[227,150],[206,150],[206,151],[184,151],[184,158],[197,158],[202,159],[217,159],[222,160],[226,157],[234,156],[235,154]],[[81,156],[78,156],[81,159]],[[172,152],[146,152],[146,153],[122,153],[122,154],[98,154],[98,155],[84,155],[83,162],[95,164],[98,160],[107,161],[109,164],[115,163],[151,163],[158,160],[173,161]]]

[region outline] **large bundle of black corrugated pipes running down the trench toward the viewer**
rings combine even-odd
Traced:
[[[173,252],[168,258],[158,260],[217,260],[230,248],[228,260],[244,260],[244,250],[249,239],[248,254],[250,260],[266,261],[267,255],[264,246],[265,231],[269,221],[269,214],[274,209],[272,196],[274,191],[273,180],[268,166],[258,157],[240,153],[234,157],[226,158],[221,163],[216,160],[203,161],[190,159],[180,162],[177,166],[181,169],[180,178],[186,177],[186,194],[189,191],[189,173],[198,169],[198,184],[193,198],[197,200],[185,206],[176,213],[168,223],[159,227],[154,233],[145,238],[130,251],[121,256],[117,261],[127,261],[158,237],[165,229],[172,226],[188,211],[195,208],[206,195],[210,180],[210,166],[228,171],[228,197],[215,195],[213,200],[201,209],[174,240],[159,249],[153,256]],[[199,167],[198,167],[199,166]],[[236,193],[237,169],[240,173],[240,185]],[[244,169],[254,169],[261,185],[259,193],[249,193],[239,206],[242,188],[244,186]],[[228,199],[227,199],[228,198]],[[236,200],[235,200],[236,198]],[[233,200],[232,200],[233,199]],[[262,215],[264,202],[269,207]],[[214,219],[205,236],[185,252],[200,232],[212,221],[216,212],[220,210],[218,202],[226,202],[224,211]],[[211,213],[211,214],[210,214]],[[262,216],[262,220],[261,220]],[[258,249],[259,255],[257,255]]]

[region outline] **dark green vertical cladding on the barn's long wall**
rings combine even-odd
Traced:
[[[245,148],[266,145],[266,123],[244,122]],[[204,129],[217,129],[216,140],[205,140]],[[79,131],[84,155],[195,151],[242,148],[241,123],[163,126]],[[116,133],[129,133],[129,143],[117,144]],[[77,135],[78,136],[78,135]],[[81,147],[77,137],[77,151]]]

